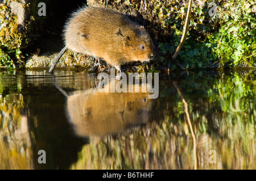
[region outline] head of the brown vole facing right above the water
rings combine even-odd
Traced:
[[[155,46],[143,26],[132,27],[125,33],[123,46],[130,61],[150,61],[155,56]]]

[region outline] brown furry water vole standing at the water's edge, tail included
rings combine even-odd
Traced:
[[[67,48],[97,59],[103,58],[119,71],[122,63],[149,61],[155,54],[154,44],[143,26],[119,12],[102,7],[84,7],[75,12],[65,26],[64,39],[65,47],[49,73]]]

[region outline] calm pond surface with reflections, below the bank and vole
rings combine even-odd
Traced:
[[[83,70],[2,69],[0,169],[256,169],[255,73],[159,74],[148,99]]]

